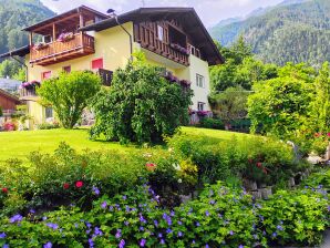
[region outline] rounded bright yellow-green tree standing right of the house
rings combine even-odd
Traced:
[[[312,87],[300,79],[282,76],[254,85],[248,97],[248,115],[252,131],[285,137],[299,130],[308,117]]]

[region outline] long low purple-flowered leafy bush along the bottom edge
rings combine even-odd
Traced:
[[[50,213],[39,219],[16,215],[0,220],[0,246],[31,247],[252,247],[266,244],[255,228],[251,197],[217,184],[200,198],[173,210],[162,209],[146,187],[94,202],[93,209]],[[18,225],[19,224],[19,225]]]

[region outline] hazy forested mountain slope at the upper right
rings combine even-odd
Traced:
[[[279,4],[257,10],[245,20],[233,20],[225,25],[220,23],[210,32],[226,46],[243,35],[265,63],[283,65],[291,61],[320,65],[330,60],[329,13],[328,0]]]

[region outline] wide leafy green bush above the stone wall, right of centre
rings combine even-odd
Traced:
[[[199,183],[239,176],[272,185],[287,180],[305,166],[295,159],[288,145],[258,136],[220,141],[202,134],[177,134],[168,138],[168,146],[182,159],[190,158],[197,165]]]

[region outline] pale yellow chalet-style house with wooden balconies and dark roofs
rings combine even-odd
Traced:
[[[112,72],[125,66],[133,51],[143,51],[167,76],[192,82],[192,110],[210,111],[208,65],[223,63],[223,58],[193,8],[141,8],[115,17],[82,6],[24,31],[30,45],[0,58],[25,56],[29,82],[42,83],[61,71],[92,70],[110,85]],[[44,43],[33,44],[35,34]],[[52,117],[30,84],[21,100],[35,123]]]

